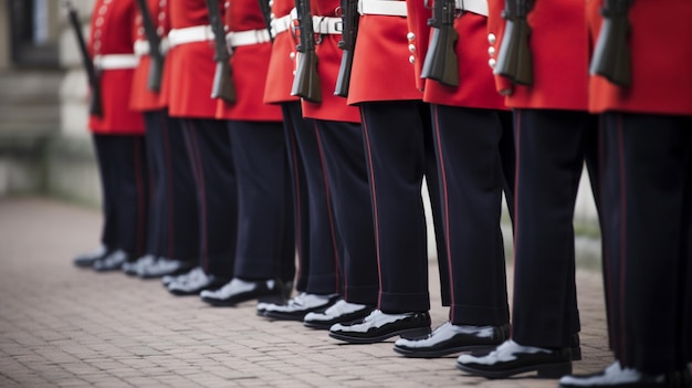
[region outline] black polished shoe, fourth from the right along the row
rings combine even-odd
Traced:
[[[352,344],[375,344],[400,335],[407,338],[422,337],[430,333],[430,314],[385,314],[375,310],[363,321],[336,324],[329,328],[329,337]]]

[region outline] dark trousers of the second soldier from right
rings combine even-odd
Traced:
[[[568,347],[580,329],[574,209],[585,160],[598,192],[597,122],[586,112],[516,109],[514,125],[512,338],[527,346]]]

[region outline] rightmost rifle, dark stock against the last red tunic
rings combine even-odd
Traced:
[[[630,23],[627,19],[633,0],[606,0],[601,14],[604,24],[596,41],[590,73],[606,77],[619,86],[632,83],[632,64],[627,38]]]

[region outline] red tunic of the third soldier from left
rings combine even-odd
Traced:
[[[219,8],[223,10],[222,0]],[[205,0],[176,0],[169,7],[169,17],[171,29],[209,24]],[[211,98],[213,56],[212,41],[186,43],[168,51],[161,94],[171,116],[216,117],[217,101]]]

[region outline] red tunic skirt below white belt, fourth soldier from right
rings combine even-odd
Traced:
[[[348,104],[422,99],[413,65],[409,62],[407,33],[403,17],[360,17]]]

